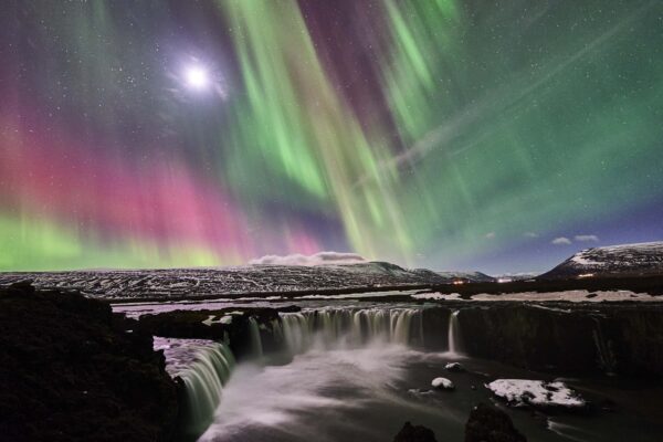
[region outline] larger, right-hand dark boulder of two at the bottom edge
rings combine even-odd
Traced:
[[[465,442],[527,442],[508,414],[485,403],[472,409],[465,424]]]

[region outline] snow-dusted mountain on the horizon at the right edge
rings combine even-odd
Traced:
[[[663,275],[663,241],[587,249],[539,278],[639,275]]]

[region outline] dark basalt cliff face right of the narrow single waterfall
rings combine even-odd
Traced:
[[[486,304],[459,313],[470,356],[539,371],[651,377],[663,372],[659,305]]]

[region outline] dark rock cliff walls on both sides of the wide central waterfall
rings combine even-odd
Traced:
[[[369,305],[389,309],[394,304],[385,299]],[[663,305],[659,303],[436,301],[412,306],[420,309],[421,319],[410,325],[410,344],[427,350],[450,349],[450,319],[457,312],[455,350],[471,357],[567,375],[660,377],[663,372]],[[265,352],[278,351],[286,345],[274,328],[282,324],[280,313],[299,309],[298,304],[283,303],[274,308],[175,311],[144,315],[136,328],[177,338],[225,338],[241,358],[251,340],[250,318],[259,325]],[[323,327],[324,309],[319,315],[308,311],[312,326]],[[414,341],[419,336],[421,341]]]

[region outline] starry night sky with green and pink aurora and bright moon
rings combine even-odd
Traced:
[[[0,8],[0,270],[663,236],[661,1]]]

